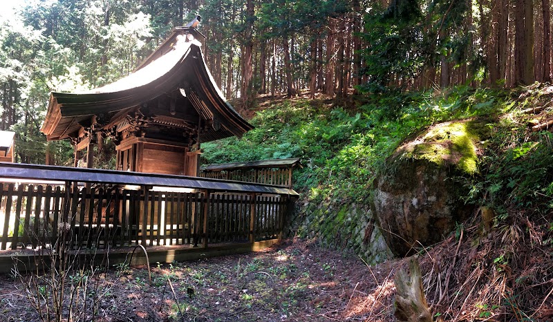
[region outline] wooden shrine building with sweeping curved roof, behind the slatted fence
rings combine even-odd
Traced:
[[[176,28],[131,75],[85,93],[50,94],[41,131],[87,149],[111,138],[117,170],[197,176],[200,143],[253,127],[226,102],[191,26]]]

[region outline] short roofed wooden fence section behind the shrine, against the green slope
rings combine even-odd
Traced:
[[[211,164],[202,167],[200,176],[272,184],[292,189],[292,169],[300,166],[299,158]]]

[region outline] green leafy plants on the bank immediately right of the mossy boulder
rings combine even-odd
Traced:
[[[503,120],[494,129],[483,167],[474,182],[473,198],[486,198],[496,209],[514,207],[530,213],[553,208],[553,135],[543,131],[527,137],[525,126]],[[542,208],[542,209],[541,209]]]

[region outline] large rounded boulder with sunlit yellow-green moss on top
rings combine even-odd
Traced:
[[[386,243],[396,256],[440,242],[472,212],[460,178],[478,172],[485,120],[431,126],[406,141],[375,180],[373,207]]]

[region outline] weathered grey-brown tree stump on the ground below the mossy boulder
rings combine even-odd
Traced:
[[[409,274],[400,269],[395,284],[394,316],[400,322],[432,322],[432,314],[422,289],[422,275],[415,256],[409,261]]]

